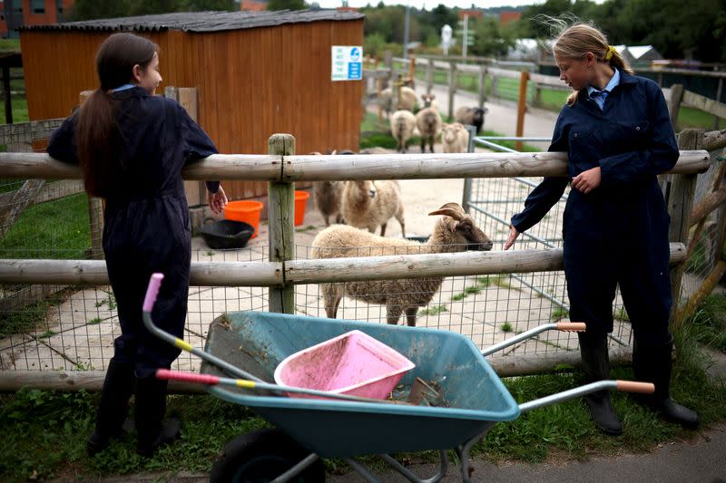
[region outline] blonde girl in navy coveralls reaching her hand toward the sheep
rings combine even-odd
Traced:
[[[552,51],[560,79],[573,90],[554,127],[550,151],[568,155],[568,178],[545,178],[512,217],[505,250],[560,199],[568,183],[563,220],[564,274],[570,319],[580,333],[586,382],[610,378],[607,334],[620,287],[633,327],[633,371],[655,392],[638,401],[665,420],[693,429],[699,417],[669,394],[673,339],[666,210],[657,175],[672,169],[678,147],[661,88],[637,77],[592,24],[545,17],[554,30]],[[608,391],[584,398],[595,425],[623,432]]]

